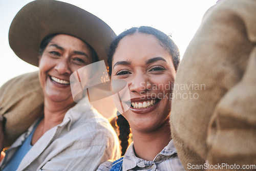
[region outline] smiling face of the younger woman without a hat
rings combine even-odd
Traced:
[[[123,116],[132,130],[153,131],[168,122],[176,71],[160,40],[144,33],[125,36],[112,66],[111,78],[124,79],[129,86],[132,104]]]

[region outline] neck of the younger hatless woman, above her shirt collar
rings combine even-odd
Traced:
[[[150,133],[141,133],[132,129],[136,156],[153,161],[172,139],[169,123]]]

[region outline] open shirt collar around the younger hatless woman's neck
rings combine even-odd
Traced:
[[[136,157],[134,152],[134,144],[133,142],[130,144],[130,146],[127,148],[124,156],[123,156],[123,171],[133,169],[134,167],[145,167],[152,165],[153,162],[157,160],[158,156],[172,156],[176,154],[176,148],[174,146],[173,140],[170,140],[168,145],[163,148],[163,150],[155,157],[153,161],[146,161],[141,158]]]

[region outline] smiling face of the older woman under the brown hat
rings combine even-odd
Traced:
[[[72,103],[70,75],[92,63],[91,51],[82,40],[65,34],[52,38],[39,59],[39,80],[46,98]]]

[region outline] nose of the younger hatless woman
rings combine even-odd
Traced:
[[[137,92],[140,94],[145,93],[146,91],[152,88],[152,84],[146,75],[142,73],[134,74],[133,79],[129,84],[129,89],[131,92]]]

